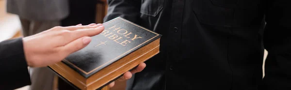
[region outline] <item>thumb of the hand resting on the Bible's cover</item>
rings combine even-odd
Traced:
[[[73,52],[76,52],[91,42],[91,37],[85,36],[79,39],[76,39],[63,47],[63,51],[66,55],[69,55]]]

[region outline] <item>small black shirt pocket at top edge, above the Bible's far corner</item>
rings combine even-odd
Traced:
[[[142,0],[140,13],[144,15],[156,16],[163,8],[164,0]]]

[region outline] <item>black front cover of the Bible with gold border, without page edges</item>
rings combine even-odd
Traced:
[[[63,60],[85,78],[162,36],[121,17],[103,26],[105,29],[93,36],[89,45]]]

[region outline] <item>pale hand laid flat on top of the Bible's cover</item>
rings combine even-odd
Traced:
[[[91,42],[91,37],[104,30],[102,24],[54,27],[24,37],[25,58],[30,67],[43,67],[63,60]]]

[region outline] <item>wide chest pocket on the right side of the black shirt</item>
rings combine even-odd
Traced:
[[[259,0],[194,0],[193,12],[200,23],[220,27],[249,27],[261,13]]]

